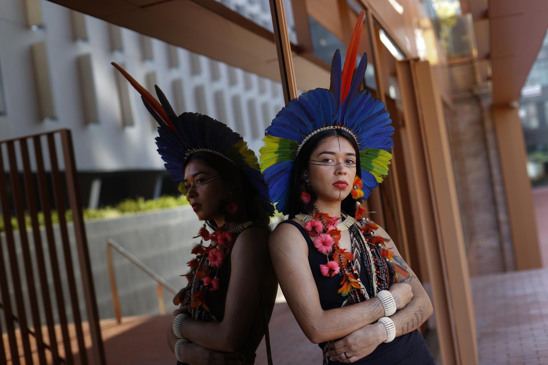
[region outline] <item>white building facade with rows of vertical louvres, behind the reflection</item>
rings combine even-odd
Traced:
[[[268,0],[221,2],[272,28]],[[0,0],[0,10],[0,139],[70,128],[81,171],[163,169],[152,118],[112,61],[153,95],[157,83],[176,113],[207,113],[255,152],[284,105],[279,83],[58,4]]]

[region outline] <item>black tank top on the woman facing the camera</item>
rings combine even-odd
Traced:
[[[299,229],[302,236],[305,237],[306,243],[309,248],[309,263],[310,269],[312,270],[312,276],[316,282],[316,287],[318,288],[319,302],[322,305],[323,310],[329,310],[334,308],[340,308],[343,305],[345,297],[341,296],[337,291],[340,288],[340,277],[326,277],[323,276],[319,270],[319,265],[326,264],[326,256],[314,247],[312,239],[306,233],[305,229],[302,226],[292,220],[287,220],[282,223],[289,223],[294,225]],[[362,264],[362,268],[365,267],[365,264]],[[361,270],[359,279],[364,283],[364,286],[367,288],[369,297],[372,297],[370,293],[369,285],[369,273],[367,270]],[[390,282],[393,282],[393,277],[390,277]],[[326,343],[318,344],[319,347],[323,350]],[[329,365],[343,364],[339,361],[330,361]],[[434,364],[430,350],[426,346],[426,341],[423,338],[423,335],[420,334],[418,329],[415,331],[404,334],[403,336],[396,337],[390,343],[381,343],[376,349],[369,354],[368,356],[354,362],[354,364],[360,365],[373,365],[373,364],[383,364],[383,365],[404,365],[404,364],[413,364],[413,365],[431,365]]]

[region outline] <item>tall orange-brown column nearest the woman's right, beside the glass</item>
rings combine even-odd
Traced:
[[[443,105],[430,63],[414,62],[414,84],[418,96],[421,132],[429,165],[431,199],[438,230],[438,249],[443,272],[430,271],[430,277],[443,275],[447,281],[455,340],[460,364],[477,364],[476,322],[470,289],[470,274],[459,200]]]

